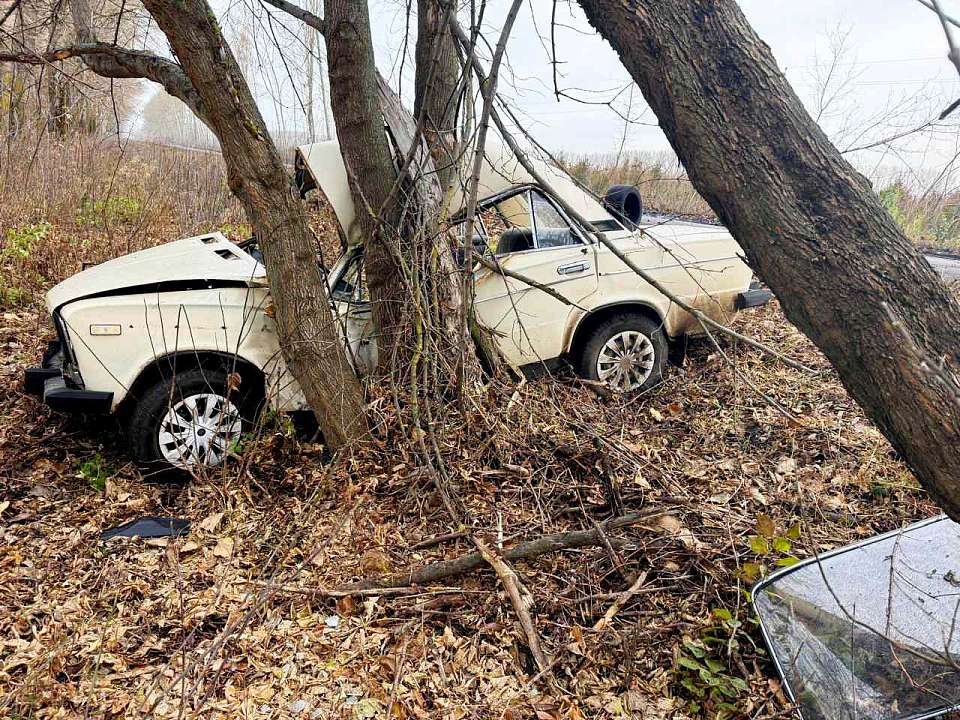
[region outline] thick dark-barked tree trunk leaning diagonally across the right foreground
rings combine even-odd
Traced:
[[[960,520],[960,305],[734,0],[580,4],[786,316]],[[940,362],[945,374],[932,369]]]

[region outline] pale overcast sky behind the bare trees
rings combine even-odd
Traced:
[[[947,12],[960,17],[960,0],[940,1]],[[226,10],[226,0],[215,2],[215,7],[220,3]],[[406,0],[371,0],[378,64],[395,86],[402,84],[409,97],[412,49],[401,70],[407,5]],[[507,0],[489,2],[485,30],[491,42],[496,41],[507,6]],[[832,85],[842,92],[820,119],[841,149],[915,127],[960,97],[960,80],[946,58],[943,30],[936,15],[917,0],[741,0],[740,6],[814,115],[817,88],[822,85],[818,76],[822,78],[830,66],[837,37],[845,37]],[[524,5],[501,76],[501,94],[512,101],[527,127],[554,151],[601,154],[615,152],[621,145],[638,151],[668,150],[656,118],[632,87],[616,54],[593,32],[579,7],[563,0],[557,10],[560,86],[585,100],[613,100],[617,111],[554,97],[547,39],[551,10],[552,0],[529,0]],[[242,27],[242,21],[235,26]],[[960,30],[957,35],[960,38]],[[303,128],[302,96],[284,89],[285,84],[289,86],[287,68],[264,58],[262,50],[256,58],[259,67],[251,75],[266,88],[260,89],[258,100],[268,121],[272,118],[271,124],[285,130]],[[166,112],[159,115],[168,116]],[[634,122],[626,123],[620,115]],[[936,174],[960,150],[958,127],[911,137],[893,149],[856,153],[851,159],[874,175],[880,168],[899,172],[904,166],[924,175]]]

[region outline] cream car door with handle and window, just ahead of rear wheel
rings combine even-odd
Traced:
[[[597,291],[595,245],[540,190],[524,188],[484,203],[478,224],[503,268],[549,286],[577,305]],[[571,316],[583,312],[482,267],[475,293],[478,319],[494,332],[506,360],[518,367],[560,357],[573,326]]]

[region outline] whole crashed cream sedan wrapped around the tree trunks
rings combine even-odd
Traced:
[[[718,321],[770,298],[751,283],[724,228],[644,216],[635,188],[615,187],[600,201],[559,168],[533,162],[549,188],[506,150],[488,150],[471,242],[573,305],[477,265],[476,313],[509,363],[542,370],[568,362],[616,390],[642,390],[659,381],[672,347],[702,332],[590,230],[603,231],[665,288]],[[298,148],[296,175],[304,192],[322,191],[343,237],[353,237],[355,210],[336,142]],[[592,228],[570,218],[558,196]],[[457,204],[466,203],[454,198]],[[281,412],[307,409],[281,357],[259,257],[255,240],[238,245],[215,232],[68,278],[47,293],[58,339],[41,367],[26,371],[26,390],[58,411],[117,414],[145,465],[220,463],[264,402]],[[329,284],[363,373],[376,361],[376,342],[362,254],[346,252]]]

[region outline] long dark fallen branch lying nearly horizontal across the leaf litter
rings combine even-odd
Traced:
[[[621,517],[612,518],[599,523],[598,528],[592,530],[572,530],[565,533],[556,533],[553,535],[543,535],[536,540],[528,540],[518,543],[511,548],[503,551],[504,560],[530,560],[547,553],[558,552],[560,550],[574,550],[583,547],[596,547],[603,544],[603,532],[614,530],[627,525],[636,525],[669,512],[667,509],[656,510],[649,513],[631,513]],[[374,588],[400,588],[410,585],[430,585],[440,580],[465,575],[473,572],[486,564],[483,555],[480,552],[467,553],[453,560],[441,560],[440,562],[424,565],[416,570],[410,570],[405,573],[393,573],[382,577],[364,578],[355,583],[341,585],[335,588],[336,592],[358,593],[359,591],[371,590]]]

